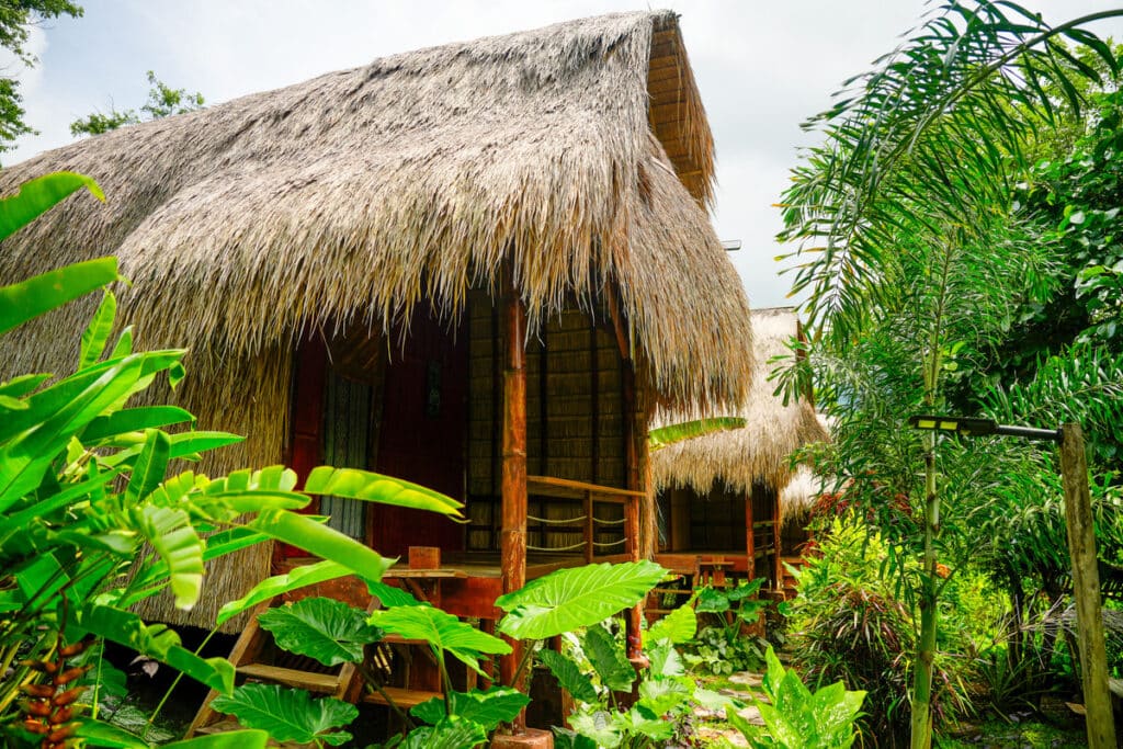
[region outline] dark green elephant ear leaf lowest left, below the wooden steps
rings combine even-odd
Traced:
[[[351,740],[350,733],[335,729],[358,716],[358,709],[343,700],[312,700],[303,689],[277,684],[244,684],[229,696],[214,697],[211,706],[235,715],[247,728],[268,731],[276,741],[314,741],[334,747]]]

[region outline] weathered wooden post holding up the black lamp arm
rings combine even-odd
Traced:
[[[1066,423],[1060,429],[1065,522],[1068,528],[1068,552],[1072,559],[1072,597],[1076,599],[1076,628],[1084,706],[1087,711],[1088,746],[1092,749],[1115,749],[1115,724],[1107,688],[1104,619],[1099,603],[1099,569],[1096,563],[1092,501],[1088,495],[1084,433],[1076,423]]]

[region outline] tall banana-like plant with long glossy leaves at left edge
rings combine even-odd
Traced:
[[[0,202],[0,238],[83,188],[101,197],[91,180],[72,173],[25,184]],[[4,286],[0,334],[116,277],[116,261],[101,258]],[[75,721],[80,678],[97,666],[85,654],[102,639],[229,693],[228,661],[199,657],[174,631],[129,610],[165,590],[190,608],[202,593],[206,560],[276,539],[376,583],[390,560],[294,512],[308,494],[458,514],[458,503],[444,495],[359,471],[317,468],[302,491],[281,466],[216,479],[192,471],[166,476],[172,460],[198,459],[240,438],[195,430],[192,414],[179,408],[130,407],[157,376],[173,386],[182,378],[184,351],[135,353],[130,328],[111,340],[115,312],[107,290],[82,334],[73,374],[29,374],[0,385],[0,732],[16,746],[62,746],[75,734],[147,746],[95,720]],[[164,431],[173,426],[181,431]],[[253,514],[239,520],[243,513]],[[249,731],[198,743],[264,746],[265,738]]]

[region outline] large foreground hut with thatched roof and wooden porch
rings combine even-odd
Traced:
[[[325,462],[464,500],[466,527],[321,505],[382,552],[439,548],[454,613],[493,618],[558,565],[650,555],[652,404],[720,408],[750,382],[672,12],[385,57],[81,140],[0,189],[56,170],[108,201],[73,197],[6,241],[0,275],[117,255],[138,345],[191,349],[170,398],[247,436],[211,473]],[[64,369],[90,309],[6,337],[3,366]],[[210,625],[271,561],[250,551],[191,612],[147,613]]]

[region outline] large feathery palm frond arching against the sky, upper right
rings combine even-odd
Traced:
[[[782,240],[797,243],[793,294],[810,328],[837,341],[859,331],[886,293],[882,268],[902,236],[970,235],[1008,212],[1028,144],[1057,111],[1079,111],[1108,45],[1085,26],[1123,9],[1049,26],[1012,2],[943,3],[877,67],[847,82],[805,128],[827,140],[804,154],[783,197]],[[802,261],[802,262],[800,262]]]

